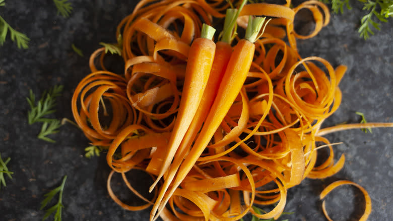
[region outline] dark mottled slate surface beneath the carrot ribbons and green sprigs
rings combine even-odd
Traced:
[[[71,96],[79,80],[89,73],[88,56],[100,41],[114,42],[117,23],[133,10],[133,1],[70,1],[70,18],[56,15],[51,0],[6,1],[0,15],[12,27],[30,38],[29,49],[22,50],[9,39],[0,48],[0,153],[11,157],[13,179],[0,190],[0,220],[41,220],[39,203],[49,189],[57,187],[68,175],[63,196],[63,220],[148,220],[148,210],[131,212],[117,206],[108,196],[105,182],[109,173],[104,156],[83,157],[88,140],[71,125],[61,127],[52,136],[57,142],[36,138],[40,125],[27,123],[26,102],[29,89],[41,94],[63,84],[56,118],[70,118]],[[126,3],[128,2],[128,3]],[[346,14],[333,15],[328,27],[317,37],[298,41],[301,55],[320,56],[332,63],[348,66],[340,87],[343,102],[324,126],[341,122],[359,122],[355,111],[369,122],[393,122],[393,29],[382,24],[382,31],[364,41],[356,29],[362,12],[359,7]],[[72,49],[75,44],[85,57]],[[369,191],[373,210],[369,220],[391,220],[393,211],[392,129],[373,129],[372,134],[353,130],[329,135],[336,155],[346,153],[344,169],[332,178],[305,180],[288,192],[290,220],[324,220],[318,194],[328,184],[348,179]],[[132,177],[143,182],[142,177]],[[132,201],[132,200],[131,200]],[[362,197],[354,188],[342,188],[328,198],[335,220],[357,220],[363,207]],[[349,218],[349,216],[355,218]]]

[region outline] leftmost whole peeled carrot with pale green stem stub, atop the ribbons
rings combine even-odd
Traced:
[[[216,44],[211,39],[214,32],[214,28],[204,24],[201,37],[195,39],[190,46],[177,118],[160,173],[150,187],[150,191],[154,189],[167,171],[184,134],[187,132],[195,113],[197,113],[213,65]]]

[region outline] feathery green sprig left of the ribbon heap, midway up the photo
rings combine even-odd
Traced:
[[[35,101],[35,95],[32,90],[30,90],[30,97],[26,98],[31,108],[31,111],[28,112],[29,124],[32,125],[36,122],[43,123],[41,131],[38,134],[39,139],[52,143],[55,142],[54,140],[46,136],[57,133],[57,129],[60,128],[61,122],[57,119],[46,118],[46,116],[56,111],[56,97],[60,96],[62,90],[62,85],[54,86],[53,88],[42,94],[42,97],[37,102],[37,104]]]

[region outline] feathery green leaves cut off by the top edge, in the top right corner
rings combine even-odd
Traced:
[[[351,10],[352,7],[349,4],[349,0],[319,0],[325,4],[332,4],[332,10],[334,13],[344,14],[344,6]],[[387,22],[389,17],[393,17],[393,0],[358,0],[363,4],[363,10],[368,13],[362,17],[361,25],[358,29],[360,37],[368,39],[370,34],[374,32],[371,27],[376,30],[380,30],[380,23],[375,22],[376,17],[380,22]]]

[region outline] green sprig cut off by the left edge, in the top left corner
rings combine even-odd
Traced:
[[[0,6],[6,6],[5,0],[0,0]],[[25,34],[13,29],[2,16],[0,16],[0,46],[4,44],[7,34],[10,32],[11,40],[16,41],[18,48],[28,48],[30,38]]]

